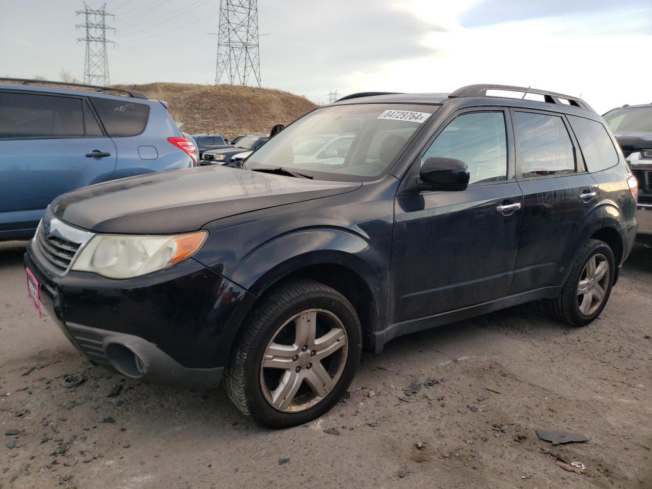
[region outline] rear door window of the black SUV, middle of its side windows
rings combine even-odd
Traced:
[[[571,136],[557,115],[516,112],[524,178],[575,173]]]

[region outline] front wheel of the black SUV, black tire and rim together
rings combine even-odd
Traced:
[[[243,324],[226,393],[268,428],[311,421],[346,393],[361,347],[360,321],[344,295],[312,280],[277,286]]]

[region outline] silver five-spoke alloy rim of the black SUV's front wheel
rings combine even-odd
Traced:
[[[316,406],[336,385],[346,364],[348,338],[342,321],[324,309],[308,309],[272,336],[260,365],[265,399],[278,411]]]

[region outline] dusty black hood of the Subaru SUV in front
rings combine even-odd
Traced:
[[[91,185],[59,196],[50,209],[65,222],[99,233],[183,233],[216,219],[344,194],[361,185],[208,166]]]

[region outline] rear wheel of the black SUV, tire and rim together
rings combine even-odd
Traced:
[[[615,259],[608,244],[589,239],[572,265],[556,299],[549,299],[554,318],[572,326],[585,326],[604,309],[614,285]]]

